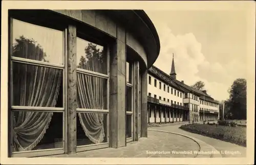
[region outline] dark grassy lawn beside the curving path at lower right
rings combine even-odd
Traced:
[[[246,147],[246,127],[186,124],[180,126],[180,129]]]

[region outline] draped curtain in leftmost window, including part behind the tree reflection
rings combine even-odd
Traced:
[[[28,39],[18,40],[13,56],[44,60],[39,45]],[[13,105],[54,107],[62,79],[61,70],[13,62]],[[32,150],[44,137],[53,113],[13,111],[15,151]]]

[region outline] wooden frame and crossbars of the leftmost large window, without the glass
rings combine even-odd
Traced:
[[[22,112],[53,112],[53,113],[62,113],[62,147],[61,148],[51,148],[51,149],[42,149],[42,150],[30,150],[30,151],[12,151],[12,139],[13,139],[13,132],[9,131],[8,135],[8,153],[9,157],[34,157],[34,156],[45,156],[45,155],[50,155],[50,154],[63,154],[65,153],[66,150],[66,111],[65,107],[67,104],[67,86],[66,86],[66,78],[67,78],[67,28],[62,28],[62,62],[63,64],[54,64],[54,63],[48,63],[48,62],[41,62],[41,61],[36,61],[36,60],[31,60],[31,59],[25,59],[25,58],[18,58],[18,57],[13,57],[12,54],[12,41],[13,41],[13,20],[18,20],[22,21],[24,23],[29,23],[33,25],[37,25],[36,23],[30,23],[24,20],[17,19],[15,17],[9,17],[9,54],[8,54],[8,59],[10,63],[10,69],[8,70],[9,74],[9,82],[10,82],[10,93],[8,98],[10,99],[10,104],[9,104],[9,110],[8,110],[8,124],[10,127],[9,129],[12,129],[12,112],[15,111],[22,111]],[[48,26],[42,26],[39,25],[40,27],[45,27],[48,28]],[[53,28],[49,28],[53,29]],[[55,30],[55,29],[54,29]],[[59,30],[58,30],[59,31]],[[16,106],[13,105],[13,63],[19,63],[19,64],[26,64],[26,65],[31,65],[31,66],[40,66],[40,67],[47,67],[47,68],[54,68],[54,69],[59,69],[62,70],[62,107],[40,107],[40,106]]]

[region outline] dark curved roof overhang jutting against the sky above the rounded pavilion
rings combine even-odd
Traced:
[[[147,68],[156,61],[160,40],[156,28],[143,10],[105,10],[106,14],[121,23],[139,41],[147,55]]]

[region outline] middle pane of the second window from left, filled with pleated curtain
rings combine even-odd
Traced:
[[[107,79],[77,73],[77,107],[107,109]]]

